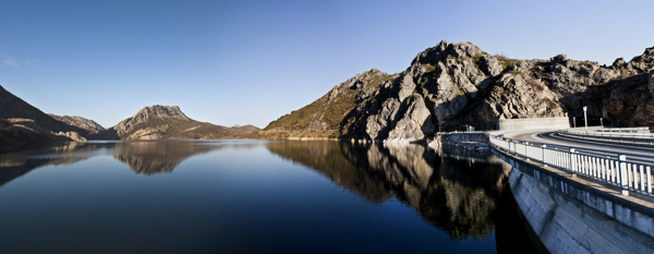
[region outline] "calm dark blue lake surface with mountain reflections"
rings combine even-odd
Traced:
[[[0,155],[0,253],[532,252],[492,155],[339,142]]]

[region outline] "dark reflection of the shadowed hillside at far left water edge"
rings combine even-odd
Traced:
[[[46,166],[71,165],[89,158],[93,143],[58,143],[35,149],[0,154],[0,188],[29,171]],[[48,156],[39,156],[47,154]]]

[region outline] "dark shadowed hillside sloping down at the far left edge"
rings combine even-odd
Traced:
[[[48,116],[0,86],[0,142],[86,141],[88,130]]]

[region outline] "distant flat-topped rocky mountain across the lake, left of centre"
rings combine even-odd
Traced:
[[[233,132],[258,131],[252,125],[226,128],[190,119],[178,106],[155,105],[145,107],[136,114],[107,130],[107,140],[185,140],[229,136]]]

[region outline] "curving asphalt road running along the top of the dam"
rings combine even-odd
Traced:
[[[533,132],[519,132],[519,133],[507,133],[505,134],[508,138],[528,141],[528,142],[537,142],[537,143],[546,143],[553,145],[560,146],[570,146],[570,147],[579,147],[579,148],[589,148],[589,149],[597,149],[597,150],[608,150],[614,153],[639,155],[639,156],[653,156],[654,157],[654,146],[635,146],[627,143],[617,143],[617,142],[608,142],[608,141],[597,141],[597,140],[585,140],[580,137],[570,137],[559,135],[556,131],[533,131]]]

